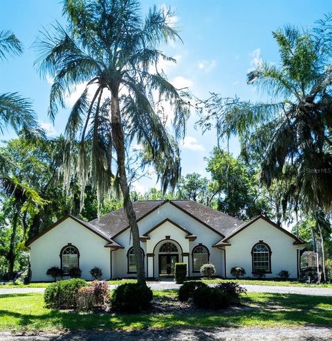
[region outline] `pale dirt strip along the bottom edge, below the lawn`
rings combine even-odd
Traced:
[[[327,327],[298,328],[210,328],[210,329],[146,329],[141,331],[62,331],[59,333],[0,332],[1,340],[92,340],[92,341],[196,341],[196,340],[268,340],[268,341],[326,341],[332,340]]]

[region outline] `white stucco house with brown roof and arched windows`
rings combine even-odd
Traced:
[[[204,263],[213,263],[216,275],[230,278],[230,269],[241,266],[246,277],[257,268],[266,277],[288,270],[299,277],[299,250],[294,234],[264,216],[243,222],[191,200],[133,202],[140,230],[146,277],[171,277],[174,263],[187,263],[188,277],[199,276]],[[46,270],[64,272],[78,266],[82,278],[98,266],[104,279],[136,276],[131,234],[123,209],[91,222],[68,215],[27,243],[32,281],[50,281]]]

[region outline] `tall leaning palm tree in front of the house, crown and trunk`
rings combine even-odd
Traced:
[[[112,182],[120,189],[133,236],[138,282],[145,283],[125,147],[133,141],[139,143],[142,158],[155,167],[163,191],[174,188],[180,158],[163,121],[163,102],[174,112],[176,138],[185,132],[189,110],[181,91],[158,70],[159,60],[174,61],[158,46],[176,40],[178,34],[169,22],[170,12],[155,6],[143,19],[136,0],[66,0],[64,15],[66,28],[55,24],[54,34],[44,30],[36,42],[39,70],[54,78],[49,114],[54,118],[57,106],[64,106],[65,96],[77,85],[85,85],[66,125],[68,141],[80,134],[76,173],[82,180],[82,193],[88,177],[92,177],[99,199]],[[112,169],[113,150],[116,172]],[[67,155],[69,179],[74,170],[70,152]]]

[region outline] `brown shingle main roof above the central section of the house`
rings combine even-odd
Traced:
[[[225,213],[210,209],[203,204],[192,200],[139,200],[133,202],[133,210],[136,213],[136,219],[139,221],[145,218],[149,213],[155,211],[166,202],[173,204],[181,211],[184,211],[192,218],[199,220],[203,225],[216,231],[221,236],[226,236],[237,229],[243,221],[228,216]],[[89,222],[96,229],[108,238],[118,236],[124,229],[127,229],[128,220],[124,209],[118,209],[99,219]]]

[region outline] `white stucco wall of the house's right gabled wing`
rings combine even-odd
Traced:
[[[266,277],[278,277],[280,270],[288,270],[291,278],[297,277],[297,247],[294,239],[270,225],[263,219],[253,222],[239,234],[229,239],[231,246],[225,247],[226,276],[232,277],[230,269],[241,266],[245,277],[252,277],[252,247],[263,241],[271,249],[271,272]]]

